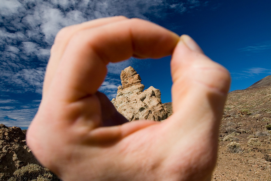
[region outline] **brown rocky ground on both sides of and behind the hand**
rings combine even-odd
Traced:
[[[271,86],[228,94],[212,181],[271,181],[270,100]],[[170,116],[171,103],[164,106]],[[20,128],[1,125],[0,137],[0,180],[58,180],[33,158]]]

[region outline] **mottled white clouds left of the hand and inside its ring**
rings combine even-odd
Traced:
[[[1,0],[0,91],[7,99],[0,99],[0,120],[9,126],[28,126],[33,119],[40,100],[26,104],[9,98],[9,93],[41,94],[50,48],[61,28],[117,15],[154,21],[166,19],[172,12],[183,14],[207,5],[199,0]],[[122,69],[148,66],[143,62],[137,65],[138,61],[109,64],[108,76],[99,90],[110,99],[115,97]]]

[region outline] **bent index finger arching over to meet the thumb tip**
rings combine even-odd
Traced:
[[[160,58],[173,52],[175,33],[140,19],[117,21],[74,33],[64,50],[51,87],[58,99],[73,102],[95,94],[108,62],[131,56]]]

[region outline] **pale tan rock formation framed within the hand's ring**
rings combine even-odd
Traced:
[[[111,101],[119,113],[129,121],[167,119],[159,89],[151,86],[144,90],[140,76],[131,66],[121,71],[120,79],[122,86],[118,87],[117,96]]]

